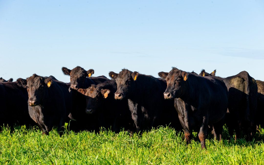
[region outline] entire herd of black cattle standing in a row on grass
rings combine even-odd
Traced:
[[[263,126],[264,82],[246,71],[221,78],[216,70],[200,74],[172,68],[159,72],[161,78],[122,69],[105,76],[91,77],[93,69],[63,67],[70,83],[36,74],[27,79],[0,78],[0,124],[38,125],[48,135],[53,126],[60,136],[64,124],[74,132],[98,132],[101,127],[142,133],[166,126],[183,130],[187,144],[196,131],[205,148],[212,133],[221,140],[223,125],[230,137],[244,135],[252,140]]]

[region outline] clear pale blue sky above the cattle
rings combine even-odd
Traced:
[[[264,81],[264,1],[3,1],[0,77],[171,67]]]

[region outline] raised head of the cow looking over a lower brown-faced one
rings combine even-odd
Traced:
[[[91,77],[92,74],[95,73],[93,69],[89,69],[86,71],[79,66],[75,67],[72,70],[66,67],[62,67],[62,72],[65,75],[70,76],[70,88],[72,89],[85,88],[86,77]]]

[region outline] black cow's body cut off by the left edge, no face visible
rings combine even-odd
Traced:
[[[18,79],[19,81],[19,79]],[[0,83],[0,126],[36,125],[29,116],[27,90],[17,81]]]

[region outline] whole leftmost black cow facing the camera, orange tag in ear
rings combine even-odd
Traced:
[[[67,85],[55,77],[33,74],[19,83],[27,88],[30,117],[38,124],[43,134],[48,135],[53,126],[63,135],[65,121],[72,108],[72,100]]]

